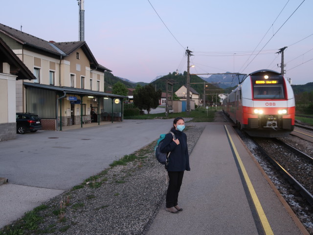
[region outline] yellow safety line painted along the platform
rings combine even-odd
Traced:
[[[240,156],[239,156],[239,154],[238,154],[238,151],[237,151],[237,149],[236,149],[236,147],[235,147],[235,144],[234,144],[233,140],[231,139],[231,136],[230,136],[230,134],[229,134],[229,132],[228,132],[228,129],[227,129],[226,125],[224,125],[224,127],[225,127],[225,129],[226,129],[226,132],[227,132],[227,134],[228,134],[229,140],[230,140],[231,145],[232,145],[232,147],[233,147],[233,149],[234,149],[234,152],[235,152],[235,154],[236,154],[236,157],[237,157],[237,160],[238,160],[238,162],[239,162],[240,168],[241,168],[241,170],[242,170],[242,172],[243,172],[243,175],[244,175],[244,177],[245,177],[246,185],[247,185],[247,187],[248,187],[248,189],[249,189],[249,192],[250,192],[250,194],[251,194],[251,197],[252,197],[254,206],[255,206],[255,208],[256,208],[256,211],[258,212],[258,215],[259,215],[259,217],[260,217],[260,220],[261,220],[263,229],[264,229],[264,231],[265,231],[265,234],[266,234],[266,235],[273,235],[274,233],[273,233],[273,231],[272,231],[272,229],[271,229],[271,227],[270,227],[270,225],[269,225],[269,223],[268,223],[268,219],[267,219],[267,217],[266,217],[266,215],[265,215],[265,213],[264,213],[264,211],[263,211],[263,208],[262,208],[261,203],[260,203],[260,201],[259,201],[259,199],[258,199],[258,196],[257,196],[256,193],[255,193],[255,190],[254,190],[254,188],[253,188],[253,186],[252,186],[252,183],[251,183],[251,181],[250,181],[250,179],[249,179],[249,176],[248,176],[248,174],[247,174],[247,172],[246,172],[246,168],[245,168],[243,162],[241,161],[241,158],[240,158]]]

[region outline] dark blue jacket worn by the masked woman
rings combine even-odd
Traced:
[[[176,130],[175,128],[172,128],[171,132],[175,134],[176,139],[179,139],[179,145],[173,141],[173,135],[168,133],[160,148],[162,153],[171,152],[167,171],[190,170],[187,136],[185,133]]]

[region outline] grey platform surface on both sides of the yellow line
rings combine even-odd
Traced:
[[[232,127],[231,138],[244,163],[273,234],[300,235],[295,222]],[[187,136],[188,138],[188,136]],[[223,123],[208,123],[190,156],[179,193],[183,211],[165,211],[165,202],[148,235],[259,235],[265,234],[246,196]],[[253,203],[252,203],[253,204]]]

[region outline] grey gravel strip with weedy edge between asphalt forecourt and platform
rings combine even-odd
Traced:
[[[190,153],[203,129],[188,123],[185,133]],[[105,169],[35,209],[41,221],[26,234],[145,234],[167,189],[164,165],[154,159],[155,144],[136,151],[136,160]],[[19,223],[12,223],[11,228]]]

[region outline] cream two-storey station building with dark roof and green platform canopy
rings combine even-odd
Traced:
[[[105,93],[104,71],[111,70],[98,64],[85,41],[45,41],[4,24],[0,38],[35,76],[16,81],[16,112],[39,115],[46,130],[123,119],[127,96]]]

